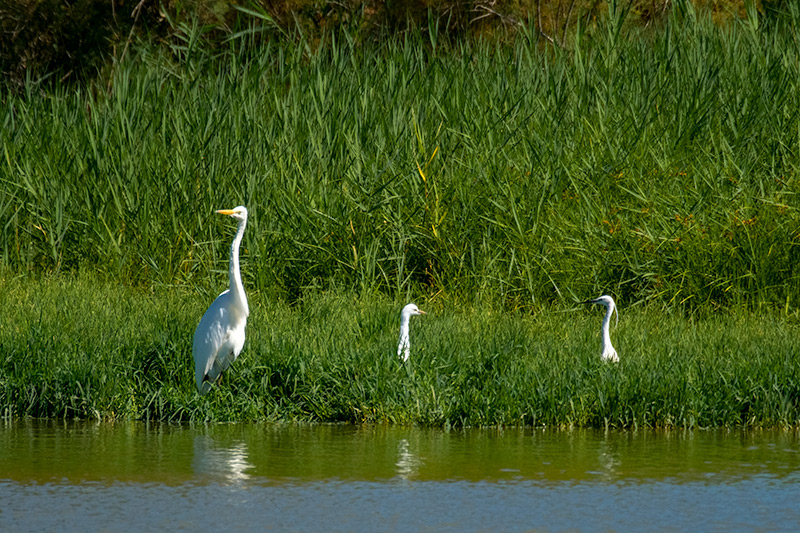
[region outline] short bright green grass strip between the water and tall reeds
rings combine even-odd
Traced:
[[[0,283],[4,416],[391,422],[431,426],[758,427],[800,424],[798,317],[625,308],[600,361],[599,309],[534,315],[426,303],[412,357],[400,303],[254,297],[247,343],[195,392],[191,337],[208,305],[182,289],[93,278]],[[420,302],[421,304],[423,302]]]

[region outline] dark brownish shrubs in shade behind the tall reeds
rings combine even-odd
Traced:
[[[157,46],[187,41],[217,50],[246,35],[253,47],[302,36],[317,42],[347,32],[374,44],[409,30],[431,39],[513,39],[535,31],[559,46],[579,24],[609,4],[624,6],[631,24],[659,25],[691,2],[718,23],[747,7],[765,17],[791,0],[5,0],[0,4],[0,83],[103,80],[142,41]],[[49,80],[49,81],[48,81]]]

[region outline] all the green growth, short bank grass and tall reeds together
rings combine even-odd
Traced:
[[[800,8],[677,3],[564,47],[408,32],[206,46],[0,89],[7,416],[431,425],[800,421]],[[565,37],[566,39],[566,37]],[[191,335],[244,204],[252,316]],[[619,365],[603,365],[613,294]],[[397,313],[412,364],[392,352]],[[716,314],[712,312],[717,311]]]

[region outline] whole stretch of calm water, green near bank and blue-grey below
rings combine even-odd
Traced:
[[[0,424],[0,531],[796,531],[796,431]]]

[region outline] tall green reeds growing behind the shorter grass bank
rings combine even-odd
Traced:
[[[795,309],[800,15],[670,17],[612,13],[567,50],[187,38],[108,87],[31,83],[2,96],[0,263],[209,291],[212,210],[246,204],[265,299]]]

